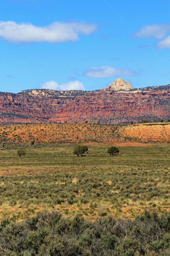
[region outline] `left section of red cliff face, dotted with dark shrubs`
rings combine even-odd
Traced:
[[[47,122],[70,99],[0,92],[0,123]]]

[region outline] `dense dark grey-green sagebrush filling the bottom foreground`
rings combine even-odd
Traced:
[[[169,213],[145,211],[133,221],[108,216],[92,223],[46,212],[20,223],[3,220],[0,250],[3,256],[168,256],[169,233]]]

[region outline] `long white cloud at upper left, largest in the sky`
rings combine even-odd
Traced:
[[[0,21],[0,36],[12,43],[77,41],[78,34],[89,35],[96,24],[82,22],[54,22],[49,26],[36,27],[27,23]]]

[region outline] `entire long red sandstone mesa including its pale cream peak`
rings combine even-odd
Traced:
[[[68,116],[82,117],[83,122],[89,116],[106,119],[113,116],[121,117],[124,123],[170,118],[170,85],[137,90],[122,80],[116,79],[106,90],[94,92],[46,89],[18,94],[0,92],[0,123],[47,123],[52,117],[63,117],[64,121]],[[111,88],[114,86],[118,89]]]

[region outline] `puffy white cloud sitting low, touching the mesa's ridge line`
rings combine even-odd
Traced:
[[[58,84],[57,82],[48,81],[44,84],[41,84],[40,89],[50,89],[56,91],[69,91],[69,90],[82,90],[85,91],[85,87],[80,81],[70,81],[68,83]]]

